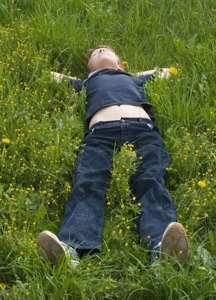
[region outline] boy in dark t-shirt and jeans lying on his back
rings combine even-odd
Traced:
[[[58,237],[43,231],[37,239],[39,255],[57,262],[58,255],[71,256],[72,265],[86,253],[101,251],[105,194],[111,179],[114,147],[132,143],[138,164],[131,178],[131,189],[141,203],[137,214],[139,238],[149,244],[151,257],[167,259],[178,268],[188,253],[184,227],[175,222],[176,207],[164,186],[169,154],[153,124],[151,104],[143,84],[154,78],[155,70],[134,77],[123,71],[123,64],[107,45],[90,49],[87,54],[89,76],[85,80],[69,77],[77,92],[86,87],[89,130],[85,132],[75,164],[75,183],[66,203]],[[169,76],[163,69],[160,77]],[[57,80],[62,74],[54,73]],[[84,151],[83,151],[84,150]],[[150,238],[148,238],[150,236]]]

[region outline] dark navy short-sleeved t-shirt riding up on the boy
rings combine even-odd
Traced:
[[[101,107],[111,105],[142,105],[149,117],[154,121],[151,103],[146,99],[143,84],[153,74],[133,75],[112,68],[100,69],[92,73],[88,79],[74,80],[69,78],[69,86],[73,85],[77,92],[86,87],[87,115],[86,124],[89,126],[91,117]]]

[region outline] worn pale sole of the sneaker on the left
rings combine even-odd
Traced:
[[[67,250],[58,237],[51,231],[43,231],[37,238],[38,254],[45,261],[57,263],[59,256],[66,255]]]

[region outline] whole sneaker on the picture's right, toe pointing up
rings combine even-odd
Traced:
[[[171,262],[175,270],[178,269],[179,263],[182,264],[189,251],[187,234],[184,227],[178,222],[172,222],[163,233],[161,242],[154,246],[151,253],[150,262],[154,262],[156,257],[159,260]],[[176,257],[179,263],[173,260]]]

